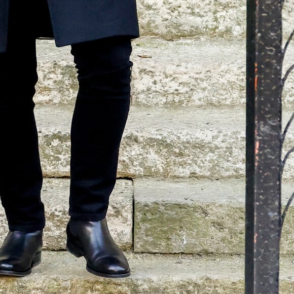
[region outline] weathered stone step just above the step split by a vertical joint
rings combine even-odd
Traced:
[[[36,107],[46,177],[69,176],[71,106]],[[285,120],[291,112],[284,112]],[[294,145],[294,125],[284,151]],[[284,178],[294,177],[289,157]],[[123,135],[119,177],[234,178],[245,173],[243,108],[131,107]]]

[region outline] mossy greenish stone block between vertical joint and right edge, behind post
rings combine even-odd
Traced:
[[[283,187],[283,203],[293,192]],[[134,251],[243,254],[245,180],[134,180]],[[286,217],[282,254],[294,253],[294,209]]]

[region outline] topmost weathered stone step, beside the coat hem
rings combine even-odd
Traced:
[[[198,38],[245,38],[245,0],[138,0],[142,35],[167,40],[196,36]],[[289,36],[294,28],[294,5],[285,1],[283,31]]]

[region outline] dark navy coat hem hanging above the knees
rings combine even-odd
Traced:
[[[136,0],[47,1],[57,47],[115,35],[139,36]],[[8,15],[9,0],[0,0],[0,52],[6,50]],[[39,36],[53,37],[48,29]]]

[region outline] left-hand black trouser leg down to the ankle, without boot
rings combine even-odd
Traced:
[[[9,229],[33,232],[45,225],[32,100],[38,81],[35,40],[19,31],[18,1],[10,6],[8,48],[0,54],[0,194]]]

